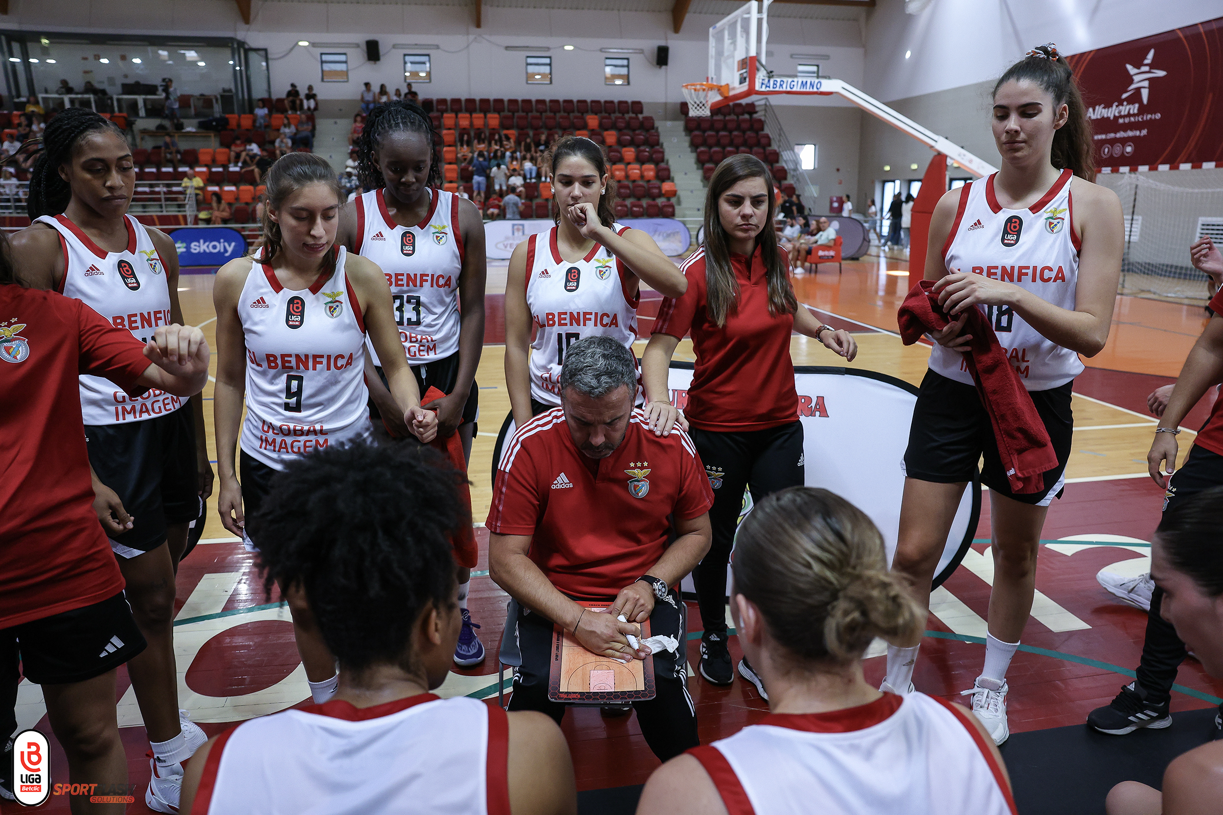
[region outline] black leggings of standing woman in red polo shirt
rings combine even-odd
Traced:
[[[709,524],[713,544],[692,571],[701,622],[707,632],[726,632],[726,563],[744,507],[744,490],[752,502],[788,486],[804,484],[802,423],[747,433],[690,431],[713,486]]]

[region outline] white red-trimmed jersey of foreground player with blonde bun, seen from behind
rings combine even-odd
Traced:
[[[838,714],[770,715],[692,754],[730,815],[1014,815],[1002,769],[961,716],[921,693],[888,694]]]

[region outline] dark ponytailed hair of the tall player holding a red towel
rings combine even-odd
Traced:
[[[1053,97],[1054,108],[1066,106],[1066,122],[1053,133],[1053,149],[1049,163],[1058,170],[1071,170],[1084,181],[1096,180],[1095,145],[1091,139],[1091,120],[1087,108],[1082,104],[1079,83],[1070,70],[1066,59],[1058,54],[1053,43],[1037,45],[1024,59],[1007,68],[994,84],[993,95],[998,88],[1011,79],[1027,79],[1044,88]]]

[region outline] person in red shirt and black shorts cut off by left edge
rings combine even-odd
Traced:
[[[130,396],[194,396],[208,379],[208,343],[199,329],[170,325],[143,346],[81,301],[24,288],[6,243],[0,238],[0,678],[12,679],[20,652],[22,672],[43,685],[73,783],[126,784],[115,673],[144,638],[93,510],[77,378],[105,376]],[[10,732],[0,732],[0,748]]]

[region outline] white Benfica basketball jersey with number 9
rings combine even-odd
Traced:
[[[366,325],[339,247],[335,272],[291,291],[252,261],[237,315],[246,337],[246,420],[241,446],[268,467],[369,430]],[[323,290],[328,291],[323,291]]]

